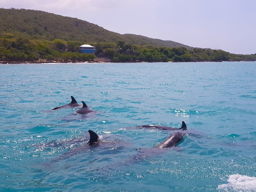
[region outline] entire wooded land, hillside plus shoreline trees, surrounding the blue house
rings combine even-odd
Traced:
[[[92,23],[52,13],[0,9],[0,61],[91,61],[79,46],[91,44],[114,62],[127,61],[240,61],[256,54],[192,48],[173,41],[110,32]]]

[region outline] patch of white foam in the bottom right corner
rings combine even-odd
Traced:
[[[255,192],[256,177],[246,175],[230,175],[227,180],[229,183],[219,185],[217,189],[223,191]]]

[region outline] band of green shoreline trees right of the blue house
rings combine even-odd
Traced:
[[[256,60],[256,54],[237,55],[222,50],[185,47],[154,47],[125,44],[119,41],[117,45],[100,43],[95,45],[97,50],[105,52],[113,61],[244,61]],[[116,49],[117,47],[117,49]]]

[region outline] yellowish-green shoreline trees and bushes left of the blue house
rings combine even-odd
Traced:
[[[69,45],[69,50],[67,49]],[[28,40],[23,38],[0,39],[0,61],[90,61],[96,58],[94,54],[80,52],[80,42],[60,39],[54,41]]]

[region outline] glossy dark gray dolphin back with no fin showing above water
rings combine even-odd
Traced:
[[[159,143],[155,148],[169,148],[177,143],[179,143],[183,136],[185,135],[185,132],[175,132],[172,133],[169,137],[167,137],[165,140],[163,140],[161,143]]]

